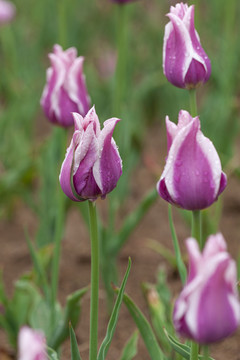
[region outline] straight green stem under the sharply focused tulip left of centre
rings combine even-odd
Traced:
[[[96,205],[91,201],[88,201],[88,205],[91,237],[91,304],[89,360],[96,360],[98,351],[99,244]]]

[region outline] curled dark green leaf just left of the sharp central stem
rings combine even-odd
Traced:
[[[52,348],[57,349],[69,335],[69,322],[73,328],[77,325],[81,311],[80,301],[84,294],[88,291],[88,287],[75,291],[67,297],[67,303],[64,310],[62,321],[56,324],[56,330],[53,332],[53,338],[49,344]]]

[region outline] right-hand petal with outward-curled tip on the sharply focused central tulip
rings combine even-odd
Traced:
[[[93,175],[103,196],[112,191],[122,174],[122,160],[112,134],[120,119],[112,118],[104,122],[99,138],[99,155],[93,167]]]

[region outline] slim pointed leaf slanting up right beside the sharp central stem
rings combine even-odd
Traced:
[[[122,281],[122,285],[118,291],[118,296],[108,323],[108,327],[107,327],[107,332],[106,332],[106,336],[103,339],[103,342],[100,346],[99,349],[99,353],[98,353],[98,360],[104,360],[106,358],[109,346],[111,344],[113,335],[114,335],[114,331],[117,325],[117,320],[118,320],[118,315],[119,315],[119,310],[120,310],[120,306],[122,304],[122,300],[123,300],[123,295],[124,295],[124,291],[125,291],[125,287],[126,287],[126,283],[127,283],[127,279],[128,279],[128,275],[131,269],[131,259],[129,258],[128,260],[128,267],[127,267],[127,271],[124,275],[123,281]]]

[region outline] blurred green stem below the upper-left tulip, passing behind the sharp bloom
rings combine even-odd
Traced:
[[[67,132],[65,129],[62,129],[62,128],[56,128],[54,130],[55,130],[55,132],[54,132],[53,136],[58,137],[59,142],[61,143],[61,148],[59,149],[59,153],[60,153],[59,157],[60,157],[60,161],[63,161],[64,154],[66,151]],[[53,165],[55,165],[55,164],[53,164]],[[65,201],[66,201],[66,196],[62,192],[62,189],[60,188],[59,183],[57,186],[58,186],[57,204],[56,204],[57,218],[56,218],[56,222],[55,222],[55,233],[54,233],[54,239],[53,239],[54,252],[53,252],[53,261],[52,261],[52,306],[53,306],[53,309],[54,309],[55,302],[57,299],[61,240],[62,240],[63,227],[64,227]]]

